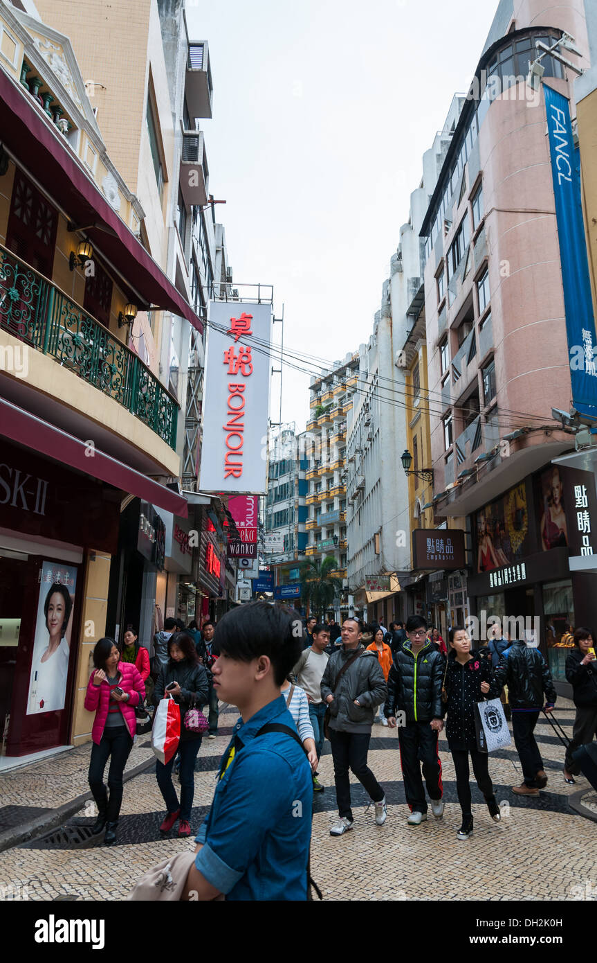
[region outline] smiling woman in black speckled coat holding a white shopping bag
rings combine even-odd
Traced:
[[[493,794],[487,768],[487,753],[477,747],[475,706],[489,691],[491,665],[471,649],[465,629],[450,629],[450,653],[446,663],[442,701],[446,720],[446,739],[456,769],[456,786],[462,810],[462,824],[457,833],[466,840],[473,831],[473,814],[469,783],[470,756],[477,785],[485,796],[492,820],[500,821],[500,807]]]

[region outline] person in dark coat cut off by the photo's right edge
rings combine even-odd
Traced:
[[[574,778],[581,771],[572,759],[572,753],[586,742],[592,742],[597,734],[597,662],[595,645],[590,629],[578,628],[574,633],[574,648],[566,659],[566,679],[572,686],[572,698],[576,706],[576,718],[572,741],[566,749],[564,779],[574,786]]]

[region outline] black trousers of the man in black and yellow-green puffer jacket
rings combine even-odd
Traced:
[[[427,812],[419,759],[423,763],[423,775],[430,799],[441,799],[443,794],[437,739],[438,734],[432,729],[431,720],[407,722],[406,725],[398,727],[400,765],[411,813]]]

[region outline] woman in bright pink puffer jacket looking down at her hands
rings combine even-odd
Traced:
[[[135,707],[143,701],[145,687],[136,666],[120,662],[120,650],[113,638],[100,638],[96,643],[93,664],[85,697],[85,708],[95,713],[88,779],[99,815],[92,832],[101,833],[106,826],[104,844],[112,846],[122,802],[122,775],[137,729]],[[110,799],[104,786],[109,756]]]

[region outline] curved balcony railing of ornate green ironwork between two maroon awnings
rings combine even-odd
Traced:
[[[135,351],[0,245],[0,327],[93,385],[176,449],[179,405]]]

